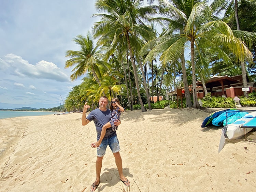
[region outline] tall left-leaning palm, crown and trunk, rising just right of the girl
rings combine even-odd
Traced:
[[[127,42],[129,56],[132,63],[134,78],[136,82],[136,89],[138,93],[139,103],[141,104],[142,112],[146,109],[141,99],[140,85],[137,74],[137,66],[134,59],[134,51],[136,49],[137,37],[144,36],[145,39],[152,39],[153,31],[149,26],[142,22],[142,18],[146,14],[156,13],[152,7],[141,7],[142,0],[98,0],[95,3],[95,8],[98,11],[104,11],[102,14],[95,14],[100,16],[101,20],[96,22],[93,31],[96,37],[107,38],[112,37],[113,42],[119,37]]]

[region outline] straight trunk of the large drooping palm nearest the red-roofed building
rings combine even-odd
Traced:
[[[194,39],[191,38],[190,42],[191,49],[191,66],[192,66],[192,92],[193,92],[193,107],[200,108],[200,104],[197,100],[197,90],[196,90],[196,69],[195,69],[195,53],[194,53]]]

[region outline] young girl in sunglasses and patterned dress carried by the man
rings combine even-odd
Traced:
[[[112,111],[111,119],[109,122],[107,122],[106,124],[103,125],[101,133],[100,133],[99,141],[90,144],[92,148],[100,146],[102,139],[104,138],[104,136],[106,134],[107,128],[111,127],[113,131],[117,130],[117,126],[114,125],[114,121],[116,119],[120,120],[121,112],[123,112],[125,109],[122,106],[120,106],[120,101],[118,98],[113,98],[111,101],[110,110]]]

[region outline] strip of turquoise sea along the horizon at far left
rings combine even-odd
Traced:
[[[33,111],[2,111],[0,110],[0,119],[24,116],[50,115],[58,112],[33,112]]]

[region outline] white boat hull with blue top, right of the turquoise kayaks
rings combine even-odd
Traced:
[[[244,125],[246,126],[246,124],[251,124],[251,120],[255,121],[254,118],[256,118],[256,112],[251,112],[233,123],[226,125],[226,128],[224,128],[225,137],[228,139],[241,138],[245,133],[248,133],[253,129],[252,126],[250,126],[250,128],[243,127]],[[256,127],[256,125],[254,126]]]

